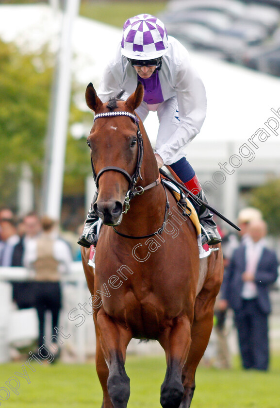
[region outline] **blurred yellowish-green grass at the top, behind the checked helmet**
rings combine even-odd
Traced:
[[[82,1],[80,15],[93,18],[116,27],[123,27],[124,22],[137,14],[157,16],[165,9],[167,1]]]

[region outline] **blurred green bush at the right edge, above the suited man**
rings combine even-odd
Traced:
[[[268,181],[251,192],[250,205],[259,208],[268,223],[269,233],[280,234],[280,179]]]

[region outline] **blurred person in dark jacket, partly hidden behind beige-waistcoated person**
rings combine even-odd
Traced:
[[[41,230],[41,221],[35,212],[30,212],[23,218],[21,222],[21,231],[23,235],[14,248],[11,266],[23,266],[23,255],[27,242],[38,237]],[[19,309],[34,307],[33,282],[14,282],[13,299]]]

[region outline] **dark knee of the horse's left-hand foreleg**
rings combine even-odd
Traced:
[[[109,374],[107,388],[115,408],[126,408],[130,397],[130,379],[124,372]]]

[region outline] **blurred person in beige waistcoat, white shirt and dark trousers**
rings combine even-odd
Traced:
[[[69,272],[72,254],[69,245],[58,238],[57,223],[49,217],[41,219],[43,232],[28,240],[24,254],[24,265],[34,271],[35,307],[39,319],[39,340],[41,347],[44,343],[45,311],[49,310],[52,316],[52,336],[50,341],[57,344],[59,311],[61,298],[61,273]],[[58,349],[58,347],[57,347]]]

